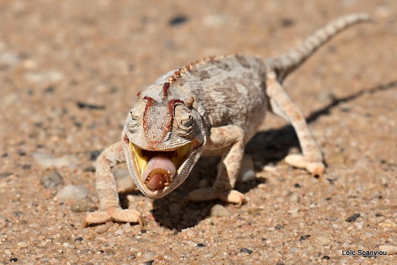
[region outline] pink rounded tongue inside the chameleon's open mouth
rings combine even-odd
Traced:
[[[143,181],[146,180],[149,173],[156,168],[163,168],[166,171],[170,171],[172,177],[175,176],[176,168],[170,159],[164,157],[154,157],[147,162],[147,169],[143,172]],[[172,179],[172,178],[171,178]],[[164,179],[162,174],[154,175],[146,186],[151,190],[156,190],[158,188],[164,187]]]

